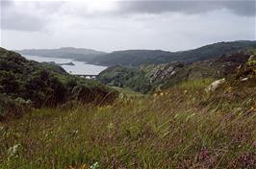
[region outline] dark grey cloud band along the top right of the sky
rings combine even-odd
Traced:
[[[239,15],[254,16],[255,1],[123,1],[119,2],[122,12],[183,12],[202,13],[227,9]]]

